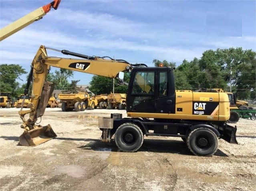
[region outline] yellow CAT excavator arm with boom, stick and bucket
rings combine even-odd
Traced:
[[[59,51],[66,55],[72,55],[83,59],[49,57],[46,49]],[[37,119],[43,116],[50,96],[54,90],[54,84],[46,81],[51,66],[117,78],[119,80],[121,80],[119,78],[120,72],[129,72],[133,67],[127,61],[108,58],[109,59],[105,59],[105,57],[89,57],[87,55],[67,50],[52,49],[41,45],[32,61],[30,75],[24,91],[24,95],[26,96],[30,82],[32,81],[30,110],[19,111],[19,115],[23,121],[21,128],[24,128],[24,133],[20,136],[19,144],[23,146],[36,146],[56,137],[50,124],[47,126],[35,124]],[[26,114],[30,115],[28,120],[25,120],[24,118]]]

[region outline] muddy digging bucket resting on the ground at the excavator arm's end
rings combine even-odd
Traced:
[[[42,144],[57,135],[52,130],[50,124],[47,126],[39,126],[34,129],[25,131],[19,138],[19,145],[22,146],[37,146]]]

